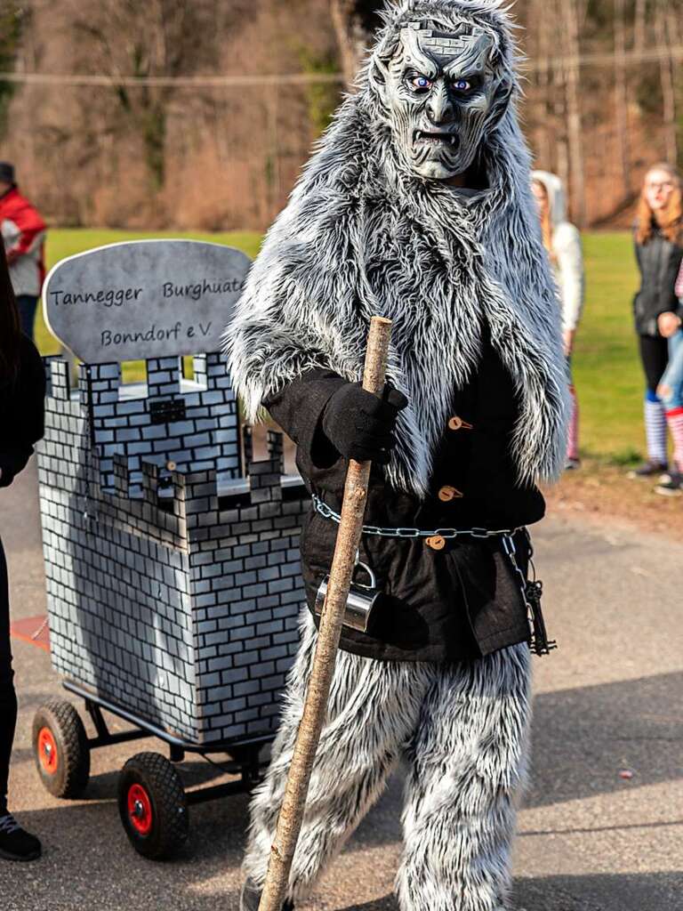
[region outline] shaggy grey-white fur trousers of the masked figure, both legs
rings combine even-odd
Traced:
[[[257,885],[265,880],[314,640],[307,615],[272,762],[251,804],[244,869]],[[525,776],[529,695],[525,645],[462,664],[375,661],[341,651],[289,897],[310,891],[407,756],[412,769],[397,879],[403,911],[502,908],[515,793]]]

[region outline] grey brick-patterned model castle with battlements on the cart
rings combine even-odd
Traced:
[[[48,359],[38,447],[55,669],[192,743],[268,734],[298,643],[299,530],[282,436],[254,461],[218,354]]]

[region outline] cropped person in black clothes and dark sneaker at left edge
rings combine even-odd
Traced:
[[[0,487],[9,486],[23,471],[33,445],[43,435],[45,391],[43,362],[34,343],[19,329],[19,314],[3,251],[0,253]],[[0,539],[0,857],[26,861],[40,856],[40,842],[25,832],[7,808],[9,761],[16,724],[13,678],[7,564]]]

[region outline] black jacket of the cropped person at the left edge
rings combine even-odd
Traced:
[[[36,345],[21,336],[19,370],[13,379],[0,379],[0,487],[22,471],[33,445],[45,433],[45,369]]]

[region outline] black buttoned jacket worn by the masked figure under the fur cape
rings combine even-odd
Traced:
[[[325,404],[343,382],[331,372],[311,370],[263,403],[297,444],[297,466],[311,492],[336,512],[342,506],[346,463],[338,458],[330,466],[320,421]],[[509,455],[517,415],[510,377],[484,342],[476,374],[453,398],[453,416],[472,429],[444,427],[430,495],[421,501],[392,489],[382,468],[375,466],[365,523],[507,529],[538,521],[545,512],[543,497],[535,486],[517,484]],[[444,486],[463,496],[443,501],[439,491]],[[330,570],[336,535],[337,525],[311,509],[301,535],[311,609],[321,578]],[[518,534],[515,540],[525,570],[525,538]],[[372,635],[342,630],[345,650],[382,660],[463,660],[529,638],[519,580],[500,537],[464,537],[434,550],[424,538],[364,535],[361,558],[377,574],[385,597]]]

